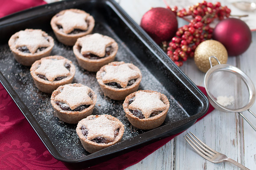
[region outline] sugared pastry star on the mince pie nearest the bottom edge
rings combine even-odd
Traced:
[[[101,115],[93,120],[85,120],[84,126],[88,130],[88,140],[92,140],[97,137],[103,137],[110,140],[114,140],[115,130],[121,127],[119,122],[111,121],[105,115]]]

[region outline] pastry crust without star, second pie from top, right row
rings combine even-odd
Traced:
[[[109,37],[111,38],[111,37]],[[112,39],[112,38],[111,38]],[[114,41],[114,39],[112,39]],[[79,51],[79,41],[77,40],[75,45],[73,46],[73,52],[76,56],[76,60],[78,64],[85,70],[96,72],[100,70],[100,68],[112,61],[114,61],[115,56],[118,50],[118,44],[114,41],[111,46],[113,48],[113,52],[108,57],[100,58],[100,59],[89,59],[84,57]]]

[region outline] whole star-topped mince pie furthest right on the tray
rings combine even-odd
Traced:
[[[164,94],[139,90],[127,96],[123,109],[130,123],[139,129],[154,129],[165,120],[170,103]]]

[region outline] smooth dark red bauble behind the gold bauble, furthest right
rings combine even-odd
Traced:
[[[242,20],[228,18],[216,25],[213,39],[226,47],[229,56],[236,56],[245,52],[250,46],[251,30]]]

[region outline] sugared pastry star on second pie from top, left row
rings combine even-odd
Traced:
[[[64,66],[66,61],[43,59],[41,65],[35,70],[36,74],[44,75],[48,81],[52,82],[55,78],[61,76],[68,76],[70,74],[69,70]]]

